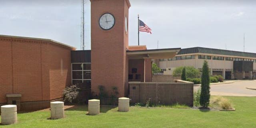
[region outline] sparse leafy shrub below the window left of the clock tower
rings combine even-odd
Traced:
[[[63,100],[65,103],[76,103],[77,96],[79,94],[80,88],[78,88],[77,85],[71,85],[69,87],[66,87],[63,91]]]

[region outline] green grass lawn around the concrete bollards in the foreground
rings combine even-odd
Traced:
[[[131,107],[129,112],[102,107],[88,116],[86,106],[65,110],[66,117],[48,120],[50,111],[18,114],[18,123],[0,128],[256,128],[256,97],[225,96],[236,111],[200,111]]]

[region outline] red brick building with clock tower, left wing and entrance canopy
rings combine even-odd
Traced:
[[[128,82],[151,82],[151,60],[172,58],[180,48],[128,46],[129,8],[129,0],[91,0],[91,50],[0,35],[0,104],[38,110],[62,100],[70,84],[84,83],[95,94],[99,85],[109,94],[116,86],[124,97],[129,95]]]

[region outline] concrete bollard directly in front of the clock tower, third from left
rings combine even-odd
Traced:
[[[100,114],[100,100],[88,100],[88,114],[98,115]]]

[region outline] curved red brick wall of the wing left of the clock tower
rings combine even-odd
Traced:
[[[70,51],[55,42],[0,36],[0,103],[6,94],[22,94],[21,102],[62,98],[71,83]]]

